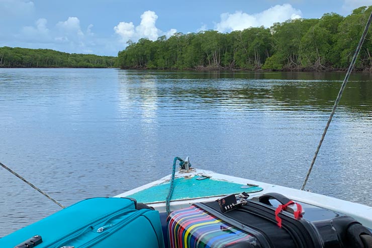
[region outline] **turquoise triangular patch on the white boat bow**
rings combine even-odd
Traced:
[[[143,203],[164,202],[169,191],[169,185],[170,182],[165,182],[127,197],[134,198],[138,202]],[[248,186],[248,188],[244,186],[246,185],[227,181],[218,181],[209,178],[204,180],[197,180],[197,177],[176,178],[173,184],[174,188],[171,200],[223,196],[228,194],[239,194],[242,192],[249,194],[262,191],[262,188],[257,186]]]

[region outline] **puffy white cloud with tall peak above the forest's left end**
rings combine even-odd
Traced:
[[[158,16],[153,11],[145,11],[141,15],[140,24],[135,27],[133,22],[120,22],[114,27],[115,33],[120,37],[121,42],[126,43],[128,40],[137,41],[140,38],[156,40],[159,36],[166,35],[170,37],[177,32],[176,29],[170,29],[163,32],[156,27]]]

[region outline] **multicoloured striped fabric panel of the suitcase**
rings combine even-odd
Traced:
[[[171,248],[222,248],[238,242],[253,247],[258,244],[253,235],[194,205],[172,212],[168,217],[168,231]]]

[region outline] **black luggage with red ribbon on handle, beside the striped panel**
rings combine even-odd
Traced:
[[[260,235],[256,237],[262,247],[372,247],[371,232],[349,216],[304,203],[292,205],[291,200],[277,193],[265,194],[257,200],[242,199],[242,204],[236,204],[236,200],[234,203],[234,199],[229,204],[231,197],[235,198],[230,195],[218,202],[195,206],[226,223],[236,226],[239,222],[258,231]],[[298,207],[287,207],[290,204]],[[303,217],[302,208],[305,209]]]

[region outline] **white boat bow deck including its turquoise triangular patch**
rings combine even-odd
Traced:
[[[200,176],[209,179],[200,181],[196,180],[196,178]],[[169,189],[170,178],[171,176],[168,175],[155,182],[117,195],[116,197],[133,197],[139,202],[149,203],[149,205],[153,206],[159,212],[165,212],[165,197],[167,190]],[[368,228],[372,228],[372,207],[358,203],[283,186],[227,176],[206,170],[194,169],[187,173],[178,172],[176,173],[176,181],[177,180],[180,184],[178,184],[173,190],[174,198],[172,197],[170,202],[172,211],[188,207],[197,202],[213,201],[221,195],[226,194],[247,192],[251,198],[265,193],[275,192],[283,194],[295,201],[305,202],[349,215]],[[205,182],[203,183],[203,181]],[[208,185],[207,189],[206,185]],[[157,189],[159,189],[159,191],[157,191]],[[164,194],[164,192],[166,193]]]

